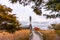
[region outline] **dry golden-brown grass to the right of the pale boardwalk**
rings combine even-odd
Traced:
[[[39,30],[43,34],[44,40],[60,40],[54,30]]]

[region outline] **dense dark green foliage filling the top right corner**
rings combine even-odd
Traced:
[[[60,0],[48,0],[46,2],[46,9],[47,10],[52,10],[52,12],[59,12],[60,10]]]

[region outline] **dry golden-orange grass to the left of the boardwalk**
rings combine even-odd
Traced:
[[[16,31],[14,34],[2,32],[0,33],[0,40],[28,40],[29,34],[29,29]]]

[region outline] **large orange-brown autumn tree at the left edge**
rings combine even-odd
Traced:
[[[12,9],[0,4],[0,30],[14,32],[20,29],[20,23],[15,14],[10,14]]]

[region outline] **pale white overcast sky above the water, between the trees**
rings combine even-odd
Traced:
[[[19,3],[12,4],[8,0],[0,0],[0,4],[6,5],[7,7],[12,8],[13,9],[12,13],[16,14],[19,21],[29,21],[28,20],[29,16],[32,16],[33,21],[38,21],[38,22],[40,22],[40,21],[50,21],[50,19],[46,20],[45,17],[36,15],[33,12],[33,9],[31,8],[31,6],[33,4],[24,7],[24,6],[20,5]],[[49,12],[44,11],[44,9],[42,9],[42,13],[46,14],[46,13],[49,13]],[[58,19],[55,19],[55,20],[58,20]],[[54,20],[51,19],[51,21],[54,21]]]

